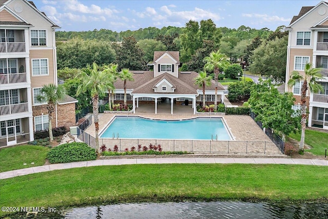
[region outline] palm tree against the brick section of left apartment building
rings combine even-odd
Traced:
[[[58,101],[65,96],[65,89],[63,86],[57,86],[54,84],[44,85],[41,88],[41,93],[36,96],[38,102],[47,102],[48,119],[49,119],[49,138],[50,142],[53,141],[52,134],[52,113],[55,111],[55,106]]]

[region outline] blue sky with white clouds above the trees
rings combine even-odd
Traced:
[[[318,0],[292,1],[87,1],[34,0],[36,7],[58,26],[59,31],[109,29],[120,32],[147,27],[185,27],[190,21],[212,19],[216,27],[269,28],[288,26],[302,6]]]

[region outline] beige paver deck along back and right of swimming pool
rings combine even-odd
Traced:
[[[194,115],[190,114],[155,114],[155,113],[99,113],[99,133],[106,128],[108,122],[115,116],[142,116],[147,118],[156,118],[162,120],[177,120],[194,117],[208,117],[209,115]],[[213,115],[212,115],[213,116]],[[270,142],[270,138],[258,127],[253,119],[248,115],[217,115],[223,117],[226,121],[231,134],[236,141],[250,142]],[[216,117],[216,116],[213,116]],[[94,121],[93,121],[94,122]],[[91,125],[86,130],[92,136],[95,136],[94,125]]]

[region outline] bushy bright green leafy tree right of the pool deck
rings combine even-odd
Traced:
[[[292,93],[280,94],[270,80],[256,84],[248,100],[255,113],[255,121],[261,121],[263,127],[271,128],[283,137],[300,128],[300,117],[292,109],[295,98]]]

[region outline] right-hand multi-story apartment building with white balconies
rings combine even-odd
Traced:
[[[308,126],[328,129],[328,2],[302,7],[285,29],[289,31],[286,82],[293,71],[304,74],[306,63],[322,68],[323,79],[319,83],[323,92],[308,91],[306,96],[310,112]],[[300,109],[301,86],[302,83],[296,83],[285,87],[285,91],[293,92],[296,98],[294,109]]]

